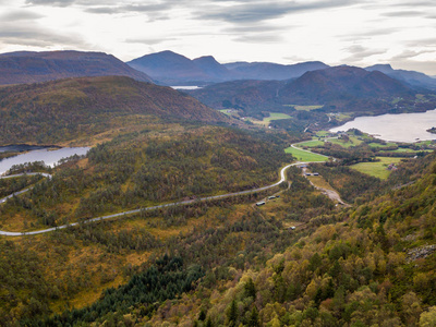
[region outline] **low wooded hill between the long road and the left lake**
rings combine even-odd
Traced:
[[[141,206],[251,190],[276,182],[279,168],[291,161],[282,152],[286,134],[213,126],[168,133],[125,134],[92,148],[86,159],[72,158],[52,178],[0,207],[0,222],[12,229],[55,227]]]

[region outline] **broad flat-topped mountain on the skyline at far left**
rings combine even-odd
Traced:
[[[146,74],[102,52],[23,51],[0,55],[0,84],[3,85],[109,75],[152,82]]]

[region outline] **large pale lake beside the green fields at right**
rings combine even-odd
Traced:
[[[330,132],[358,129],[385,141],[413,143],[436,140],[436,134],[426,131],[433,126],[436,128],[436,109],[415,113],[358,117],[353,121],[331,129]]]

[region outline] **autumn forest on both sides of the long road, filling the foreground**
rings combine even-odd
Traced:
[[[170,201],[250,189],[290,160],[276,133],[173,133],[116,137],[51,179],[0,180],[4,192],[34,185],[0,208],[3,228],[55,226],[69,209],[70,219],[117,211],[157,192]],[[292,167],[262,207],[253,204],[271,193],[0,240],[0,323],[433,326],[435,155],[404,160],[387,181],[338,162],[311,169],[353,205],[335,205]]]

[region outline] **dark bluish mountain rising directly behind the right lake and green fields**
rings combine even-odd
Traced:
[[[231,81],[187,93],[209,107],[235,108],[250,116],[259,111],[287,112],[294,105],[382,113],[395,107],[395,99],[414,101],[416,90],[379,71],[335,66],[310,71],[290,81]]]

